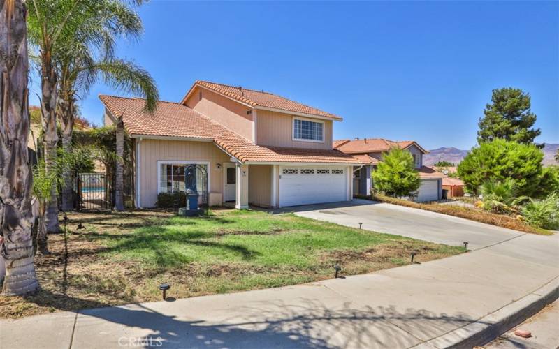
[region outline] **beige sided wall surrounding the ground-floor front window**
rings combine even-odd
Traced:
[[[136,140],[137,141],[137,140]],[[138,142],[138,141],[137,141]],[[210,193],[223,194],[223,166],[217,163],[229,161],[222,150],[212,142],[191,142],[181,140],[150,140],[139,141],[140,148],[140,206],[154,207],[157,201],[157,161],[210,161],[208,176]],[[212,195],[215,197],[215,195]],[[221,200],[220,200],[221,201]]]

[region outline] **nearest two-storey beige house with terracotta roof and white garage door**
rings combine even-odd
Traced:
[[[135,202],[184,190],[184,168],[208,172],[209,205],[286,207],[352,200],[360,161],[332,149],[341,117],[263,91],[197,81],[180,103],[143,113],[140,98],[99,96],[105,124],[122,117],[133,142]]]

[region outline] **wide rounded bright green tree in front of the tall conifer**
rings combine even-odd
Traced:
[[[512,179],[518,195],[532,196],[542,179],[542,158],[534,144],[498,139],[474,147],[458,165],[458,176],[472,193],[486,181]]]

